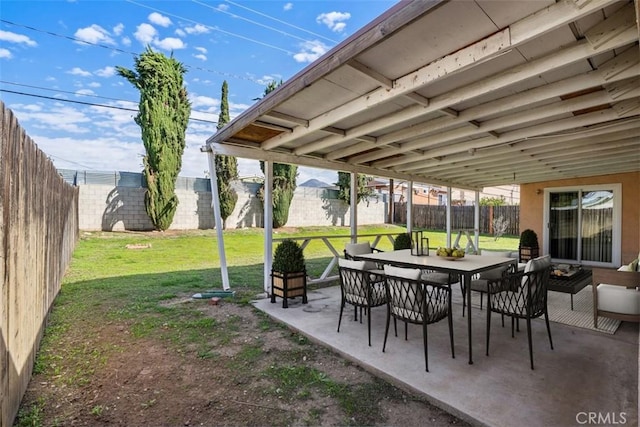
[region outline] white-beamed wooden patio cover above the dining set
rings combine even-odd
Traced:
[[[399,2],[204,150],[475,191],[639,171],[638,1]]]

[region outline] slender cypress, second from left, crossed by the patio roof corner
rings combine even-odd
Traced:
[[[222,96],[220,99],[220,115],[218,116],[217,129],[220,130],[229,123],[229,86],[227,81],[222,82]],[[218,200],[220,201],[220,216],[222,228],[227,228],[227,218],[233,212],[238,202],[238,193],[231,186],[231,181],[238,179],[238,160],[233,156],[218,154],[215,160],[216,176],[218,182]]]

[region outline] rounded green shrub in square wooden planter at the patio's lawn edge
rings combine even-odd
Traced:
[[[276,247],[271,266],[271,302],[276,296],[282,298],[282,307],[287,308],[287,300],[302,296],[307,303],[307,272],[302,248],[297,242],[285,239]]]

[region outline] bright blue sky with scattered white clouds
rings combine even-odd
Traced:
[[[231,118],[272,80],[291,78],[395,1],[17,1],[0,4],[0,99],[58,168],[142,170],[133,117],[139,93],[115,73],[147,45],[188,71],[192,102],[182,176],[208,170],[200,147],[215,133],[222,82]],[[261,176],[239,159],[242,176]],[[300,168],[335,182],[336,172]]]

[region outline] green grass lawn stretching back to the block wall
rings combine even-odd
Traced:
[[[382,225],[362,227],[359,234],[397,235],[404,231],[401,227]],[[81,232],[80,235],[34,365],[34,375],[38,375],[39,381],[50,382],[56,390],[89,387],[96,378],[96,372],[123,351],[122,344],[101,338],[100,331],[108,324],[122,325],[133,340],[165,343],[185,357],[217,358],[216,363],[221,369],[223,359],[218,354],[219,347],[236,333],[232,325],[216,327],[216,320],[199,309],[201,304],[173,303],[190,300],[198,292],[222,288],[214,230]],[[336,236],[331,242],[341,253],[349,241],[349,229],[346,227],[276,230],[278,238],[327,235]],[[445,233],[428,232],[427,236],[432,247],[444,245]],[[236,292],[235,298],[229,302],[248,304],[263,291],[263,230],[228,230],[224,237],[230,284]],[[373,240],[373,237],[360,240],[364,239]],[[503,237],[497,241],[491,236],[480,239],[480,246],[487,249],[511,250],[517,248],[517,244],[517,237]],[[387,239],[382,240],[379,246],[383,250],[392,249]],[[318,240],[305,249],[305,257],[307,270],[312,277],[318,277],[331,260],[331,252]],[[237,319],[228,319],[228,322],[233,321]],[[279,327],[267,319],[261,324],[261,328]],[[237,357],[246,361],[256,351],[248,348],[246,355],[243,352]],[[228,362],[229,369],[235,372],[234,375],[240,375],[234,363],[237,364],[236,359]],[[264,378],[264,373],[251,369],[242,375],[248,378],[248,382]],[[298,387],[304,387],[304,381],[297,383]],[[377,385],[368,387],[375,390]],[[350,396],[343,400],[350,401]],[[47,407],[51,412],[50,408],[56,405],[47,399],[55,400],[43,395],[22,407],[18,425],[41,425],[33,420],[43,418],[43,408]],[[96,417],[100,416],[100,406],[89,409],[92,414],[95,410]],[[362,420],[363,423],[369,422],[369,418]]]

